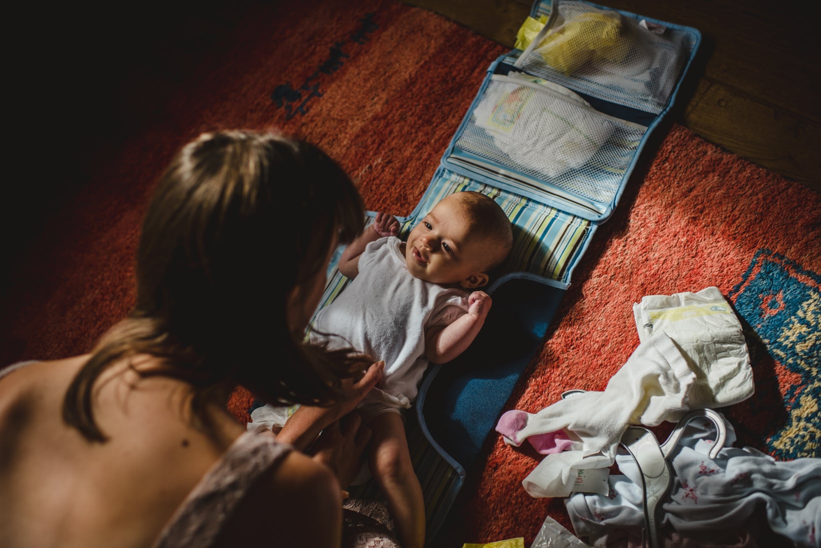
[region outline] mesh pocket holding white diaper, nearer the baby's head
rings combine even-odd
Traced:
[[[597,112],[557,84],[493,75],[454,154],[498,164],[508,177],[601,214],[612,205],[645,130]]]

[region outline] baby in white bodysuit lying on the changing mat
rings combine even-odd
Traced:
[[[360,404],[373,437],[369,469],[381,486],[401,546],[424,544],[424,500],[410,463],[401,409],[410,407],[428,363],[464,352],[484,324],[491,298],[476,290],[510,253],[511,222],[478,192],[449,194],[399,240],[396,217],[378,213],[342,253],[352,279],[317,314],[310,338],[352,346],[384,360],[378,387]]]

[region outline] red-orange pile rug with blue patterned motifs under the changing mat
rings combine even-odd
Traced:
[[[157,116],[95,158],[87,184],[13,265],[2,365],[85,352],[127,313],[147,197],[201,131],[279,128],[313,140],[355,176],[369,209],[407,215],[506,51],[395,0],[252,4]],[[656,137],[506,409],[534,413],[564,390],[603,390],[638,345],[633,303],[716,285],[742,318],[753,359],[754,396],[722,410],[738,445],[777,459],[819,456],[821,195],[682,126]],[[232,399],[239,420],[248,400],[241,390]],[[521,486],[538,457],[488,432],[440,544],[530,543],[548,514],[571,528],[562,500],[533,499]]]

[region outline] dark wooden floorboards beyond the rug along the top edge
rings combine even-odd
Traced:
[[[525,0],[405,0],[513,47]],[[699,55],[668,116],[759,166],[821,191],[819,2],[607,0],[699,30]]]

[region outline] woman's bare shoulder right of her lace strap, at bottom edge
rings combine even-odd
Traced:
[[[246,542],[277,546],[338,548],[342,534],[342,491],[331,470],[291,451],[260,477],[220,536],[218,546]]]

